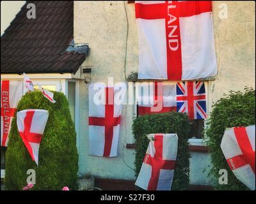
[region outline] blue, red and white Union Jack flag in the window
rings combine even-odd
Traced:
[[[177,112],[188,113],[189,119],[205,119],[206,101],[204,82],[178,82]]]

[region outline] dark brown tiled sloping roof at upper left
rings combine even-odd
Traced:
[[[26,17],[28,3],[35,19]],[[86,52],[70,49],[73,23],[73,1],[27,1],[1,36],[1,73],[76,73]]]

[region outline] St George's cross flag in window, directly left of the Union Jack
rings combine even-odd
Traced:
[[[176,87],[168,82],[136,83],[138,115],[176,112]]]

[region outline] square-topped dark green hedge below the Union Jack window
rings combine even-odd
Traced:
[[[140,173],[143,158],[147,152],[148,138],[150,133],[177,133],[178,154],[175,166],[172,190],[186,190],[189,186],[189,120],[186,114],[170,112],[141,115],[134,119],[132,125],[136,140],[135,173]]]

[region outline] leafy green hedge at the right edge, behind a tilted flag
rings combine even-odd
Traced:
[[[216,101],[212,106],[211,117],[207,121],[207,145],[211,151],[212,169],[209,177],[217,190],[246,190],[244,184],[236,179],[234,173],[230,170],[227,161],[220,147],[221,139],[226,128],[235,126],[249,126],[255,124],[255,91],[245,88],[244,92],[230,91],[224,94],[224,97]],[[228,171],[228,184],[218,184],[220,169]]]

